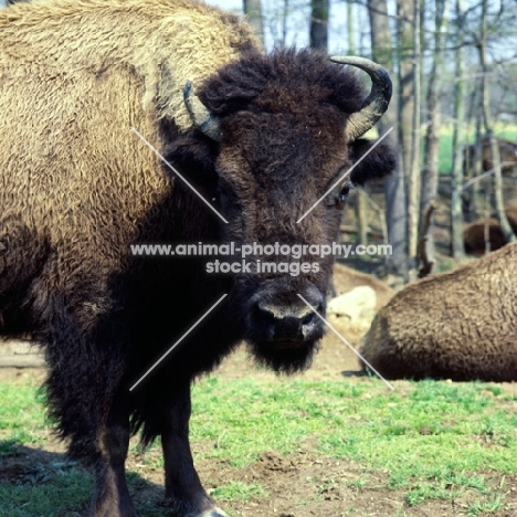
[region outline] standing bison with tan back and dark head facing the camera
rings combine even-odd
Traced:
[[[388,74],[265,54],[247,24],[188,0],[20,3],[0,34],[1,333],[42,345],[49,412],[95,471],[95,516],[136,515],[125,460],[138,431],[161,436],[172,510],[223,516],[193,467],[190,383],[241,340],[276,371],[308,366],[324,329],[298,294],[324,314],[334,258],[307,246],[337,240],[349,182],[394,167],[389,145],[360,138],[387,109]],[[370,75],[369,95],[346,63]],[[135,253],[204,243],[305,251],[262,273],[254,247],[231,274]]]

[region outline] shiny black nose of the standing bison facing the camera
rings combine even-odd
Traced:
[[[309,295],[307,295],[309,296]],[[320,313],[323,296],[309,296],[307,302]],[[300,298],[289,304],[273,304],[261,300],[255,306],[255,323],[271,341],[306,341],[321,337],[319,317]]]

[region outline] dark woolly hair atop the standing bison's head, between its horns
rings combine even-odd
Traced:
[[[247,53],[210,77],[199,93],[203,104],[222,116],[244,108],[307,114],[325,103],[349,114],[360,109],[366,95],[355,71],[295,50]]]

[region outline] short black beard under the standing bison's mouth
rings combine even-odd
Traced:
[[[277,373],[296,373],[306,370],[319,349],[319,340],[249,341],[247,346],[255,360]]]

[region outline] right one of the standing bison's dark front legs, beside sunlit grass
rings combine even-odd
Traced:
[[[223,510],[201,486],[189,444],[190,386],[181,388],[168,408],[161,434],[166,497],[180,517],[223,517]]]

